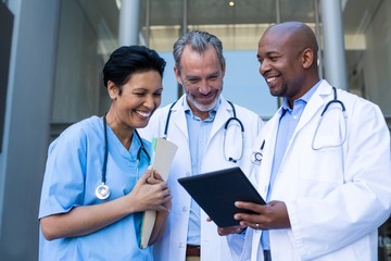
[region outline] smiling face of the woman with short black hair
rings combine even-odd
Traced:
[[[109,94],[112,105],[108,113],[108,123],[117,135],[135,128],[146,127],[152,113],[162,100],[162,77],[156,71],[134,73],[128,82],[119,88],[109,82]]]

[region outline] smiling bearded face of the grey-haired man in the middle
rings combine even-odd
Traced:
[[[180,71],[174,69],[176,78],[184,86],[187,101],[193,113],[201,119],[209,115],[223,90],[225,67],[220,64],[215,49],[211,46],[199,53],[185,47]]]

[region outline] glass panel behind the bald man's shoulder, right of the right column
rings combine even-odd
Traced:
[[[344,8],[350,90],[391,115],[391,2],[348,1]],[[348,22],[349,21],[349,22]]]

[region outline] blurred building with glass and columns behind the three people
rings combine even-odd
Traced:
[[[122,45],[147,45],[167,61],[163,102],[181,94],[172,47],[186,30],[219,37],[224,96],[267,120],[279,100],[258,74],[257,41],[276,22],[307,23],[320,42],[320,74],[377,103],[390,126],[390,0],[1,0],[0,259],[38,259],[38,206],[49,142],[102,115],[101,71]],[[391,232],[379,229],[379,260]]]

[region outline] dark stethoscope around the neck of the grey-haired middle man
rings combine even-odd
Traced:
[[[163,134],[163,138],[167,138],[167,133],[168,133],[168,125],[169,125],[169,117],[171,117],[171,114],[172,114],[172,109],[173,107],[175,105],[176,102],[174,102],[169,109],[168,109],[168,114],[167,114],[167,119],[166,119],[166,122],[165,122],[165,127],[164,127],[164,134]],[[229,105],[232,108],[232,116],[229,117],[227,120],[227,122],[225,123],[224,125],[224,141],[223,141],[223,152],[224,152],[224,158],[227,160],[227,161],[231,161],[234,163],[238,162],[242,156],[243,156],[243,150],[244,150],[244,126],[242,124],[242,122],[237,117],[237,114],[236,114],[236,110],[235,110],[235,107],[232,104],[232,102],[228,101]],[[234,157],[227,157],[227,153],[226,153],[226,139],[227,139],[227,130],[229,128],[229,126],[231,125],[232,122],[237,122],[240,126],[240,132],[241,132],[241,151],[240,151],[240,156],[238,158],[234,158]]]

